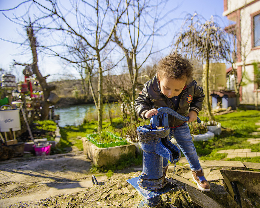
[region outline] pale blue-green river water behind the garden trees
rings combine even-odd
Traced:
[[[59,126],[80,125],[82,124],[86,113],[95,111],[95,105],[73,105],[70,107],[56,108],[55,115],[60,115]]]

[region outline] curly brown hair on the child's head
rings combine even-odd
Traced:
[[[169,77],[174,80],[180,80],[187,77],[186,84],[193,79],[193,64],[188,59],[182,58],[179,52],[161,58],[157,65],[157,73],[160,77]]]

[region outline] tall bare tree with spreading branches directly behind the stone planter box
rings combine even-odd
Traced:
[[[98,111],[98,133],[102,130],[103,73],[106,71],[103,68],[105,58],[102,56],[105,53],[102,52],[109,46],[112,34],[125,14],[130,1],[96,0],[89,3],[84,0],[72,0],[69,1],[70,5],[65,5],[63,1],[59,0],[28,0],[13,8],[15,10],[22,4],[26,4],[29,8],[27,14],[37,14],[33,16],[33,26],[44,31],[50,39],[52,38],[52,45],[45,47],[51,49],[54,55],[60,54],[66,57],[65,55],[68,54],[63,53],[63,46],[64,43],[68,45],[73,43],[71,39],[80,40],[83,46],[88,47],[90,53],[83,61],[86,63],[86,61],[93,60],[98,75],[98,94],[97,96],[92,94]],[[24,17],[18,17],[18,19],[23,21]],[[71,58],[68,57],[68,59]]]

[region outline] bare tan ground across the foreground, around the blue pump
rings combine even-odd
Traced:
[[[239,196],[240,203],[244,203],[242,207],[260,207],[258,195],[248,197],[247,189],[241,185],[237,185],[240,187],[237,195],[232,191],[236,190],[232,187],[234,183],[230,183],[226,176],[224,182],[219,166],[215,167],[216,162],[208,165],[207,161],[201,162],[202,166],[207,166],[204,171],[210,179],[211,191],[198,190],[196,184],[189,180],[191,171],[187,165],[176,165],[175,169],[171,164],[167,177],[173,177],[178,187],[162,195],[163,207],[239,208],[236,201]],[[222,168],[225,166],[227,170],[240,167],[235,162],[231,162],[231,166],[230,163],[222,163]],[[141,203],[140,194],[126,181],[138,177],[141,166],[120,170],[111,178],[104,173],[95,174],[97,181],[101,182],[98,185],[92,183],[90,168],[91,161],[83,151],[73,148],[65,154],[0,161],[0,208],[137,208]],[[173,176],[174,169],[176,174]],[[247,172],[251,174],[252,171]]]

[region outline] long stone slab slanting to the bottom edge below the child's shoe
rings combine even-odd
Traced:
[[[208,197],[202,191],[196,190],[191,186],[185,185],[186,191],[191,199],[191,203],[197,207],[203,208],[224,208],[222,205],[214,201],[212,198]],[[194,207],[196,207],[194,206]]]

